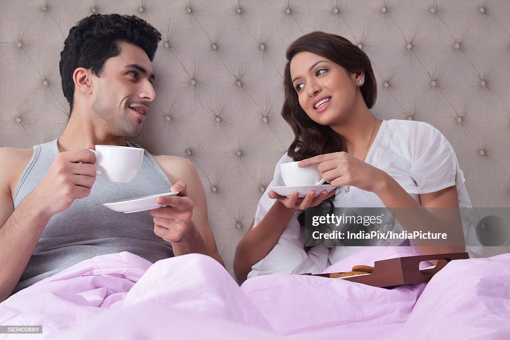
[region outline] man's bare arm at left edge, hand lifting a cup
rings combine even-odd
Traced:
[[[14,210],[14,189],[32,153],[32,149],[0,149],[6,164],[0,168],[0,301],[18,283],[49,219],[75,199],[87,197],[95,180],[95,158],[90,151],[61,153]]]

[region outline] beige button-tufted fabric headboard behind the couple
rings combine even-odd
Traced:
[[[474,206],[510,207],[507,0],[2,0],[0,147],[29,148],[63,131],[60,51],[69,29],[96,12],[135,14],[162,32],[158,98],[135,141],[196,165],[231,273],[292,139],[279,115],[285,50],[315,30],[342,35],[371,58],[376,117],[443,132]]]

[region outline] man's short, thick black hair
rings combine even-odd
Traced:
[[[152,61],[160,40],[158,30],[134,15],[92,14],[80,20],[69,31],[60,53],[62,90],[71,110],[75,69],[89,68],[99,77],[106,60],[120,54],[120,42],[139,46]]]

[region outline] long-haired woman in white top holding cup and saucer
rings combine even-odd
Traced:
[[[276,165],[269,187],[284,185],[279,164],[317,164],[336,189],[298,198],[269,190],[237,247],[234,271],[240,281],[271,273],[320,272],[358,247],[304,249],[302,210],[335,207],[402,207],[414,216],[400,224],[412,232],[426,221],[430,232],[463,239],[458,213],[423,208],[471,206],[455,153],[435,128],[411,120],[380,120],[369,111],[376,82],[367,55],[347,39],[313,32],[287,50],[282,115],[295,138]],[[451,210],[451,209],[450,209]],[[409,210],[411,211],[411,210]],[[441,212],[442,211],[442,212]],[[396,217],[398,218],[398,217]],[[405,221],[407,220],[407,221]],[[427,231],[427,230],[425,230]],[[463,246],[418,246],[422,254],[464,251]]]

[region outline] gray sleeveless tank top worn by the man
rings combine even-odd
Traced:
[[[139,145],[127,142],[130,147]],[[41,182],[59,153],[57,139],[35,145],[32,160],[14,191],[14,208]],[[127,251],[151,262],[173,256],[171,244],[154,234],[147,211],[121,213],[103,203],[170,191],[171,183],[145,151],[143,164],[129,183],[107,182],[97,175],[90,195],[50,218],[14,293],[69,266],[97,255]]]

